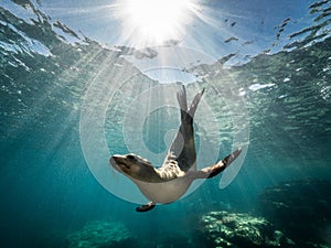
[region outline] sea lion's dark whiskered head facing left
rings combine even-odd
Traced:
[[[157,175],[151,162],[134,153],[113,155],[109,163],[115,170],[135,180],[152,182]]]

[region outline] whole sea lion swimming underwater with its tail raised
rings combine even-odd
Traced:
[[[178,93],[181,108],[181,125],[171,143],[161,168],[154,168],[148,160],[134,153],[113,155],[110,165],[130,179],[150,203],[137,207],[137,212],[152,209],[156,204],[172,203],[180,198],[193,180],[211,179],[224,171],[242,152],[237,149],[214,165],[196,171],[193,117],[204,89],[196,94],[190,108],[186,103],[185,87]]]

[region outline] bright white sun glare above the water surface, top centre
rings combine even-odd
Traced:
[[[125,39],[162,43],[184,35],[196,6],[193,0],[118,0],[117,9]]]

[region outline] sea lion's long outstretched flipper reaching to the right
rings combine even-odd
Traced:
[[[214,177],[215,175],[217,175],[222,171],[224,171],[236,158],[238,158],[241,152],[242,152],[242,148],[238,148],[236,151],[234,151],[229,155],[225,157],[218,163],[216,163],[212,166],[204,168],[200,171],[196,171],[194,177],[195,179],[211,179],[211,177]]]

